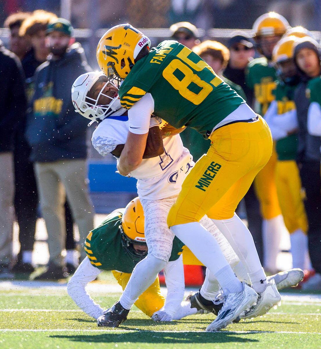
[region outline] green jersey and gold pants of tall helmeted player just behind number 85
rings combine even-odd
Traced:
[[[276,88],[275,80],[276,70],[269,64],[267,58],[256,58],[248,64],[245,82],[254,91],[254,111],[263,117],[270,103],[275,99],[273,95]],[[268,163],[254,180],[255,191],[261,204],[261,213],[266,220],[281,214],[275,183],[276,159],[276,153],[273,149]]]

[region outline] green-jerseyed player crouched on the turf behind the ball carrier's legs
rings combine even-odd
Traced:
[[[135,302],[153,320],[178,320],[199,312],[196,308],[191,309],[189,302],[181,303],[185,287],[182,247],[183,243],[175,237],[169,263],[164,268],[168,290],[166,301],[160,292],[157,277]],[[103,270],[112,270],[117,282],[124,289],[135,265],[147,255],[144,212],[139,199],[133,199],[125,209],[113,211],[98,228],[93,229],[87,236],[85,250],[87,257],[71,277],[67,290],[85,313],[98,319],[104,310],[87,294],[86,285],[95,280]],[[178,310],[170,317],[173,305],[176,309],[177,304],[180,304]]]

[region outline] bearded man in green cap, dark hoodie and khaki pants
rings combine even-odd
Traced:
[[[66,227],[64,200],[68,198],[84,243],[93,228],[93,209],[87,192],[86,122],[71,102],[70,87],[77,76],[90,70],[84,50],[72,38],[69,21],[58,18],[47,26],[46,42],[51,54],[35,73],[32,111],[26,126],[31,146],[40,206],[48,232],[48,270],[37,279],[66,276],[62,251]],[[85,257],[85,253],[81,256]]]

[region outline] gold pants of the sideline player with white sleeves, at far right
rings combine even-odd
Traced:
[[[285,227],[290,234],[299,228],[306,233],[307,218],[301,195],[301,179],[296,162],[294,160],[278,161],[275,175],[277,195]]]

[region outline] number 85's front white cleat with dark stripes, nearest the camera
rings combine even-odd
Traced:
[[[243,284],[242,292],[229,293],[225,297],[225,302],[222,309],[219,311],[216,319],[212,324],[208,325],[206,331],[214,332],[221,328],[225,328],[231,324],[238,315],[250,307],[257,301],[258,294],[245,282]]]

